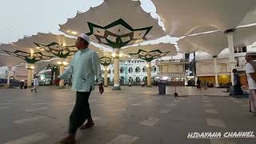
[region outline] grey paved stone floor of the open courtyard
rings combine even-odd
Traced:
[[[256,138],[188,139],[191,132],[254,131],[256,116],[249,100],[226,96],[222,89],[174,87],[160,96],[157,87],[123,86],[122,90],[95,90],[90,97],[94,128],[79,130],[78,143],[94,144],[255,144]],[[39,87],[0,90],[0,143],[51,144],[66,134],[74,91]],[[256,134],[255,134],[256,135]]]

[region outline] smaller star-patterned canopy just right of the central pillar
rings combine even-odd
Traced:
[[[167,55],[176,55],[177,51],[174,44],[158,43],[155,45],[126,47],[125,49],[122,49],[122,53],[130,54],[133,58],[141,58],[146,62],[151,62],[156,58],[161,58]]]

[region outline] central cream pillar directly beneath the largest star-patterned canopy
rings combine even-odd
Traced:
[[[113,90],[121,90],[119,84],[119,49],[114,49],[114,87]]]

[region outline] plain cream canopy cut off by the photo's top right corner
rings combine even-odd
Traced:
[[[182,37],[256,22],[255,0],[152,0],[168,34]]]

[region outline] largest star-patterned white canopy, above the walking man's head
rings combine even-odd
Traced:
[[[60,25],[71,36],[88,34],[94,42],[113,48],[132,45],[166,35],[158,20],[142,10],[139,1],[105,0],[102,5],[79,13]]]

